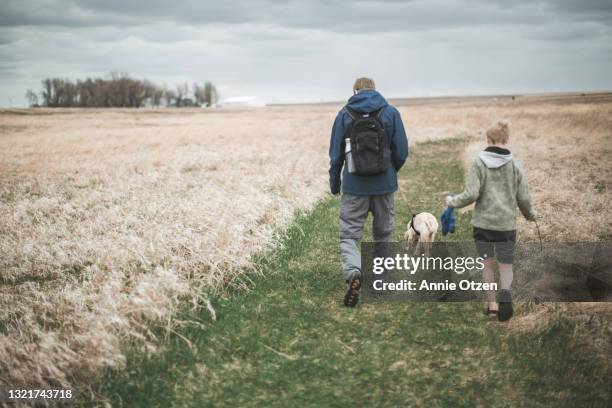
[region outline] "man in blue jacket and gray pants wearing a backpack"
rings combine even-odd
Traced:
[[[340,251],[342,277],[348,284],[344,296],[347,307],[355,307],[359,300],[358,246],[368,213],[374,216],[374,242],[389,242],[397,172],[408,158],[408,139],[400,114],[375,88],[372,79],[355,81],[354,95],[336,116],[329,145],[331,193],[340,193],[342,187]]]

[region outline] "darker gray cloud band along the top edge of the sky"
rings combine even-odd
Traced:
[[[330,31],[421,30],[468,25],[535,23],[549,19],[610,21],[608,0],[580,1],[122,1],[8,0],[1,25],[137,26],[151,22],[201,25],[263,23]]]

